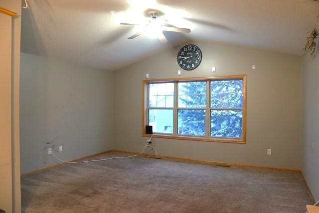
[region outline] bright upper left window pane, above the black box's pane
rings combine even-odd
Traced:
[[[150,84],[150,107],[174,106],[174,83]]]

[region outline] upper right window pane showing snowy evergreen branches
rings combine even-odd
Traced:
[[[211,107],[242,108],[243,80],[212,81]]]

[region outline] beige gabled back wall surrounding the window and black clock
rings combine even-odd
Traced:
[[[247,74],[247,143],[155,138],[160,155],[300,170],[302,163],[302,58],[218,43],[194,42],[203,60],[181,77]],[[116,149],[140,152],[142,80],[176,78],[177,46],[115,72]],[[252,65],[256,70],[252,70]],[[216,66],[216,73],[211,72]],[[272,155],[267,155],[267,149]]]

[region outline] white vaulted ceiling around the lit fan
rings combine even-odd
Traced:
[[[111,71],[197,40],[302,55],[319,12],[314,0],[29,0],[29,6],[22,11],[22,52]],[[191,33],[165,32],[165,44],[146,35],[128,40],[137,28],[119,21],[146,20],[150,8]]]

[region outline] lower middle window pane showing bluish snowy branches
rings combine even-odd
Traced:
[[[179,109],[178,134],[205,135],[205,110]]]

